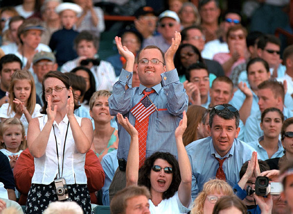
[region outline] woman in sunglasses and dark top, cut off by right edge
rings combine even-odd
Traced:
[[[281,141],[285,154],[280,158],[266,160],[271,170],[279,170],[288,161],[293,161],[293,117],[284,121],[281,128]]]

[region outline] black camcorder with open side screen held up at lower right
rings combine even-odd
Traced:
[[[247,195],[255,193],[257,195],[281,194],[283,192],[283,186],[279,182],[269,182],[269,178],[266,176],[258,176],[255,180],[255,189],[250,186],[246,188]]]

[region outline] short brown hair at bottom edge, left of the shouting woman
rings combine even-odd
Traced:
[[[127,200],[145,195],[150,198],[150,193],[145,186],[129,186],[117,192],[110,203],[111,214],[124,214],[127,207]]]

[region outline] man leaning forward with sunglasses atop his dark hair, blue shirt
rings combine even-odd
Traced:
[[[237,139],[239,112],[230,104],[215,106],[209,113],[210,137],[190,143],[187,153],[192,168],[191,195],[195,199],[203,185],[215,178],[219,168],[216,158],[224,159],[226,181],[233,187],[239,181],[239,171],[250,160],[253,149]]]

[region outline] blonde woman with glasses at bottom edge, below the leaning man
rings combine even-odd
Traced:
[[[224,180],[209,180],[194,200],[191,214],[212,214],[215,203],[224,195],[234,195],[231,186]]]

